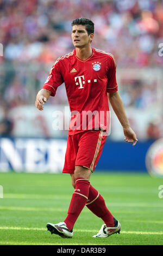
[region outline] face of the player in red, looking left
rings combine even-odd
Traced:
[[[74,47],[82,48],[87,44],[90,44],[93,34],[88,35],[83,25],[74,25],[72,27],[72,42]]]

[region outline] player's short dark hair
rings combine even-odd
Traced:
[[[83,18],[83,17],[74,19],[71,23],[71,26],[74,26],[74,25],[85,26],[85,29],[88,35],[94,33],[94,23],[90,19]]]

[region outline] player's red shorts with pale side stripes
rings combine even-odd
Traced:
[[[107,138],[103,134],[103,130],[87,130],[68,135],[65,165],[62,172],[73,174],[76,165],[82,165],[94,171]]]

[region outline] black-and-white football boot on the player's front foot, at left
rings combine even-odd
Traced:
[[[47,227],[47,230],[51,232],[51,234],[56,234],[61,237],[68,237],[68,238],[72,238],[73,236],[73,231],[68,230],[65,222],[59,222],[57,224],[47,223],[46,227]]]

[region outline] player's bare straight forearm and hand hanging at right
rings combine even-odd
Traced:
[[[133,143],[133,146],[135,146],[137,142],[136,134],[134,130],[130,127],[120,93],[118,93],[118,91],[108,93],[108,98],[112,109],[114,110],[118,120],[122,124],[124,140]]]

